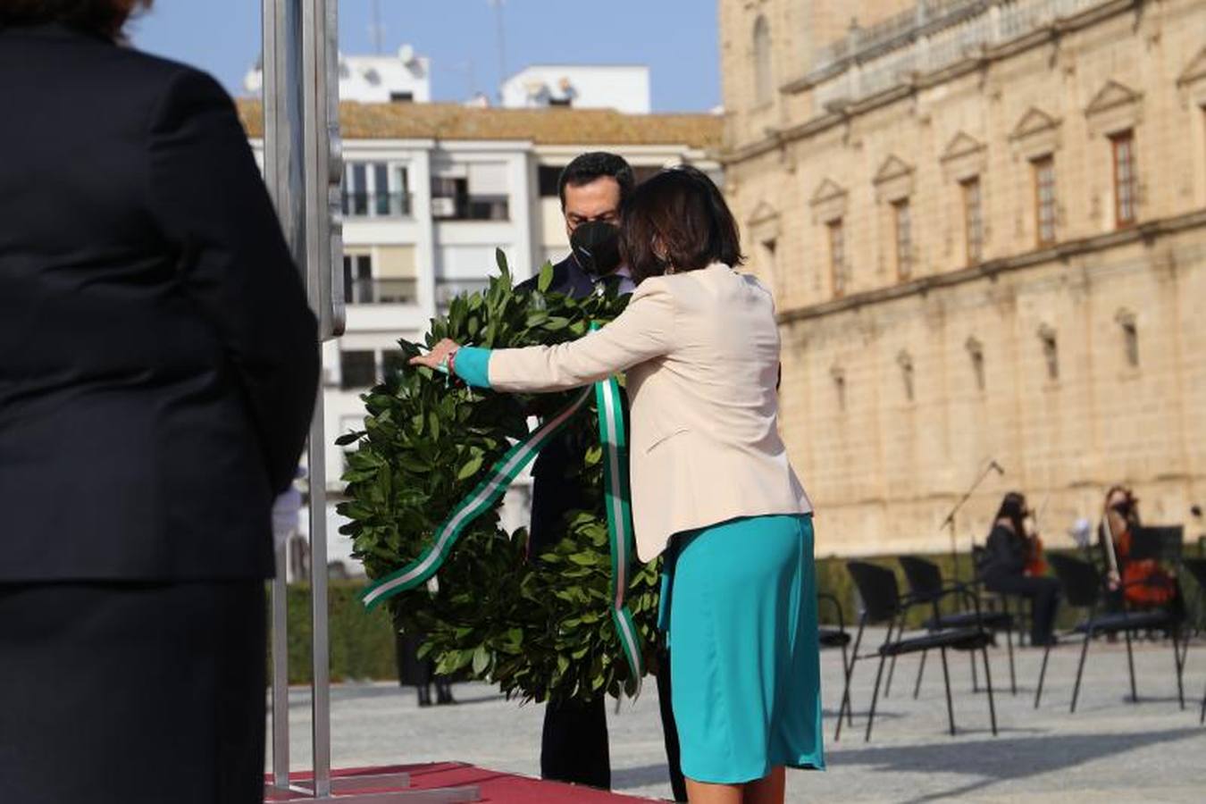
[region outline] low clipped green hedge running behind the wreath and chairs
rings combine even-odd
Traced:
[[[1071,551],[1067,551],[1071,552]],[[950,553],[924,556],[942,568],[946,579],[954,577]],[[854,585],[845,570],[847,558],[827,557],[816,562],[816,586],[842,601],[847,626],[857,618]],[[904,574],[895,557],[871,557],[870,561],[892,569],[897,575],[900,588],[907,589]],[[971,575],[971,559],[959,556],[961,576]],[[1199,599],[1199,589],[1192,579],[1183,579],[1183,592],[1190,603]],[[329,587],[330,601],[330,677],[333,681],[388,680],[398,677],[394,632],[390,622],[387,606],[365,612],[356,599],[363,588],[362,582],[333,581]],[[953,606],[947,600],[944,609]],[[1192,612],[1196,615],[1199,612]],[[836,624],[833,606],[821,604],[819,616],[822,623]],[[911,612],[909,624],[918,626],[929,616],[929,610],[918,606]],[[310,681],[310,587],[293,585],[289,587],[289,683],[309,683]],[[1077,612],[1067,608],[1060,609],[1059,627],[1069,628],[1076,621]]]

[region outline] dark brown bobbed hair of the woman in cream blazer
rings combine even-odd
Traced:
[[[633,190],[624,205],[620,243],[638,283],[669,268],[681,274],[745,262],[737,221],[720,188],[689,165],[663,170]]]

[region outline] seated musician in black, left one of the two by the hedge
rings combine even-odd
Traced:
[[[1055,639],[1052,632],[1059,605],[1059,581],[1028,574],[1028,564],[1032,564],[1035,557],[1035,539],[1028,536],[1025,529],[1028,516],[1030,509],[1023,494],[1009,492],[1005,495],[976,570],[990,592],[1031,600],[1030,642],[1038,646]]]

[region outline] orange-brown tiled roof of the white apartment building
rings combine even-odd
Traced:
[[[258,100],[239,100],[251,137],[263,136]],[[339,107],[345,140],[521,140],[535,145],[721,145],[718,115],[624,115],[605,108],[481,108],[458,104]]]

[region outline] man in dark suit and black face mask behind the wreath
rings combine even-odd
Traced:
[[[554,266],[554,293],[581,298],[614,283],[620,293],[636,289],[620,264],[616,224],[620,206],[632,190],[632,168],[613,153],[584,153],[561,174],[558,194],[570,239],[570,254]],[[534,280],[520,287],[532,287]],[[532,468],[532,527],[529,553],[539,556],[566,535],[567,511],[581,507],[581,492],[566,468],[581,460],[581,446],[569,436],[551,441]],[[675,800],[686,800],[679,769],[678,732],[671,711],[669,661],[657,673],[662,730]],[[540,746],[540,775],[592,787],[610,788],[605,699],[549,704]]]

